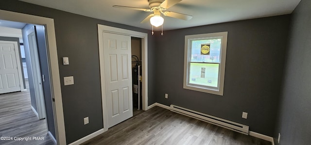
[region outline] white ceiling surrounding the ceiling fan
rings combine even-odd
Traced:
[[[146,8],[148,0],[20,0],[106,21],[151,29],[140,24],[151,12],[113,8],[113,5]],[[164,16],[164,30],[291,14],[300,0],[182,0],[168,11],[193,16],[185,21]],[[157,28],[156,30],[159,30]]]

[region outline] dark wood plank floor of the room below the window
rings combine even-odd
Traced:
[[[271,142],[224,129],[170,110],[154,107],[82,145],[271,145]]]

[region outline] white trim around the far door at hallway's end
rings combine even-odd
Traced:
[[[14,49],[15,49],[15,56],[16,56],[16,63],[17,63],[17,72],[18,72],[18,79],[19,79],[19,87],[20,87],[20,91],[21,92],[23,92],[23,91],[25,91],[25,89],[24,89],[24,82],[23,82],[23,77],[22,77],[22,73],[21,73],[21,71],[22,71],[22,67],[21,67],[21,65],[20,65],[20,56],[19,56],[19,51],[20,50],[18,50],[19,49],[19,47],[18,47],[18,45],[19,44],[17,44],[17,41],[7,41],[7,40],[0,40],[1,42],[10,42],[10,43],[13,43],[14,44]]]

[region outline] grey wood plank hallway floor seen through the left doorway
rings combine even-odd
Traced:
[[[13,141],[0,140],[0,145],[54,145],[45,119],[39,120],[31,109],[28,86],[26,81],[27,91],[0,95],[0,137],[13,137]],[[44,137],[44,140],[17,141],[14,137]]]

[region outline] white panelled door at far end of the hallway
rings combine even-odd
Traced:
[[[0,41],[0,94],[21,91],[17,42]],[[20,72],[21,73],[21,72]]]

